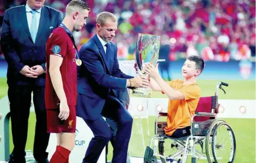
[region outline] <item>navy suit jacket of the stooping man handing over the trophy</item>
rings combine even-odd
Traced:
[[[108,48],[107,61],[104,48],[95,35],[80,49],[83,64],[78,67],[77,86],[83,100],[78,100],[76,114],[84,119],[93,120],[100,116],[107,96],[115,96],[113,90],[125,91],[126,79],[133,78],[120,71],[116,44],[110,42]]]

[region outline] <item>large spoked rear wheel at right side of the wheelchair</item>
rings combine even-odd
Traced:
[[[208,162],[234,162],[236,139],[224,120],[215,120],[208,130],[205,147]]]

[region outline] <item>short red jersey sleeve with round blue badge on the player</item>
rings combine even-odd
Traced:
[[[49,55],[56,55],[64,58],[67,54],[67,41],[61,34],[53,34],[51,46],[49,47]]]

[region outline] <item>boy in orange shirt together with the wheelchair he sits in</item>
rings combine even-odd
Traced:
[[[162,91],[169,98],[167,113],[159,113],[157,116],[155,135],[145,150],[145,163],[158,162],[157,157],[163,163],[173,161],[184,163],[188,156],[192,156],[192,163],[196,163],[196,159],[207,159],[210,163],[218,163],[220,160],[234,162],[236,156],[234,132],[225,120],[216,119],[219,107],[218,89],[222,89],[225,93],[222,85],[228,86],[228,83],[218,82],[215,96],[200,97],[201,90],[196,84],[196,78],[204,70],[204,65],[204,60],[200,56],[190,56],[181,68],[184,80],[170,82],[164,82],[153,65],[144,66],[145,73],[154,79],[150,81],[151,89]],[[160,116],[167,116],[165,134],[162,134],[161,126],[160,128],[158,126]],[[167,140],[172,143],[168,145],[166,142],[165,146]],[[151,149],[152,144],[153,149]],[[196,149],[195,146],[198,144],[202,152]],[[203,152],[204,144],[205,152]]]

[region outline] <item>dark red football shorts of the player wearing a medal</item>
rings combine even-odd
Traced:
[[[69,106],[69,117],[67,120],[61,120],[58,117],[60,108],[46,109],[47,114],[47,132],[61,133],[61,132],[75,132],[76,127],[76,110],[75,106]]]

